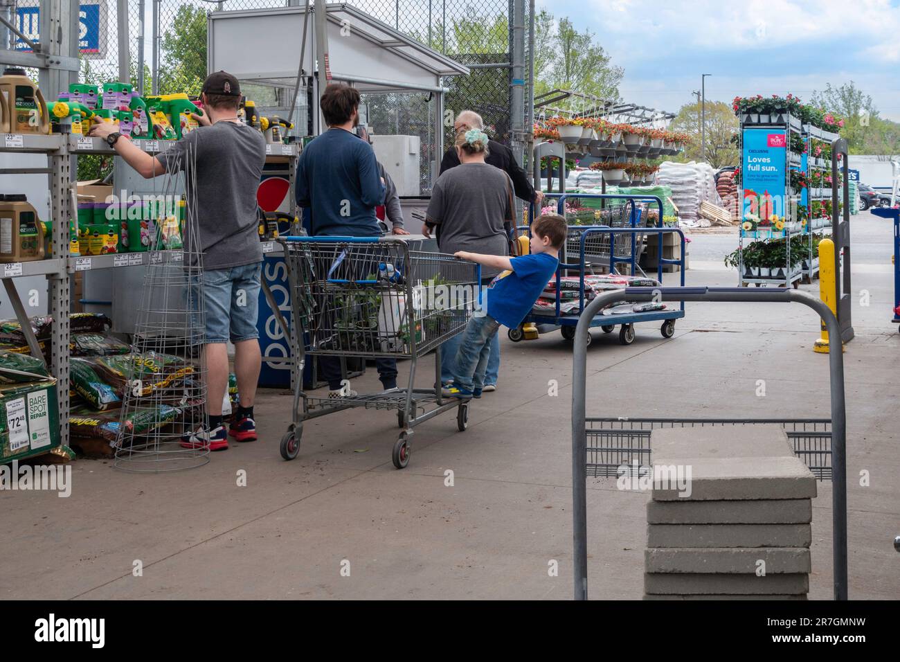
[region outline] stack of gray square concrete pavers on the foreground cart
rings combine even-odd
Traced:
[[[653,431],[663,467],[687,480],[653,484],[645,600],[806,600],[815,476],[780,426]]]

